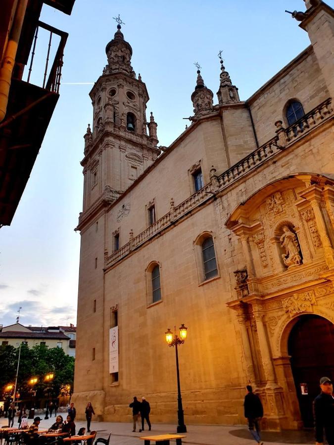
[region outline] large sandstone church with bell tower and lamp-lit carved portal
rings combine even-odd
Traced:
[[[119,25],[106,46],[81,163],[78,413],[129,421],[136,395],[176,422],[164,333],[185,323],[186,424],[244,422],[249,383],[266,427],[310,424],[334,378],[334,11],[294,15],[310,45],[245,101],[222,60],[218,101],[198,71],[169,147]]]

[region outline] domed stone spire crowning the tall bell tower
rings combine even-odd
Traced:
[[[106,46],[105,52],[108,58],[105,74],[123,72],[136,78],[136,73],[131,66],[132,47],[124,40],[120,23],[117,25],[114,38]]]

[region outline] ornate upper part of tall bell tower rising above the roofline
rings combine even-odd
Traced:
[[[117,31],[105,48],[108,63],[90,92],[93,125],[84,135],[81,219],[96,201],[117,199],[160,153],[152,113],[146,120],[148,92],[131,66],[132,47],[124,40],[122,21],[116,21]]]

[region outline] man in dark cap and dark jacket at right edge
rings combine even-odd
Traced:
[[[313,402],[316,445],[324,443],[324,430],[329,445],[334,445],[333,382],[329,377],[320,379],[321,393]]]

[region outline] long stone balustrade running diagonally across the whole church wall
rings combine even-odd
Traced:
[[[118,249],[116,252],[112,253],[110,256],[106,254],[104,258],[104,268],[115,264],[149,238],[159,233],[174,221],[182,218],[199,204],[210,199],[212,194],[225,188],[228,184],[236,181],[241,176],[258,167],[278,152],[285,150],[306,133],[309,133],[314,128],[318,127],[322,122],[332,118],[333,115],[334,112],[332,108],[332,100],[327,99],[299,119],[299,121],[296,121],[286,129],[282,127],[282,122],[278,121],[275,124],[277,127],[277,135],[275,137],[261,145],[261,147],[257,148],[249,155],[245,156],[243,159],[237,162],[237,164],[222,173],[220,176],[217,177],[215,175],[215,169],[211,170],[211,181],[208,184],[178,206],[174,207],[174,201],[172,200],[170,211],[160,218],[160,220],[147,227],[139,235],[133,237],[133,233],[131,231],[130,241],[127,244]]]

